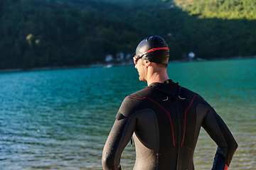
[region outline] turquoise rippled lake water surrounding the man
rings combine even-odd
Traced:
[[[256,169],[256,60],[170,63],[169,78],[201,94],[238,142],[229,169]],[[102,169],[101,156],[125,96],[144,88],[134,66],[0,74],[0,169]],[[216,145],[202,129],[196,169]],[[134,145],[122,154],[132,169]]]

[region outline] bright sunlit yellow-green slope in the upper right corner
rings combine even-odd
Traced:
[[[256,19],[253,0],[174,0],[177,6],[198,18]]]

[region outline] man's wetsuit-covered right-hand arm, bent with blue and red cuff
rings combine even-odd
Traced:
[[[218,145],[212,170],[228,169],[238,144],[227,125],[211,107],[203,120],[203,128]]]

